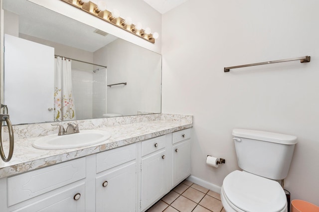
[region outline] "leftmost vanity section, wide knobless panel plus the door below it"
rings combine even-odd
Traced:
[[[8,177],[1,212],[84,212],[85,177],[85,158]]]

